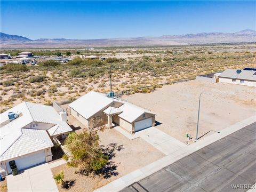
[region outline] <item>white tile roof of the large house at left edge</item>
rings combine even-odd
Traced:
[[[17,119],[8,123],[8,113],[11,111],[21,115]],[[7,124],[5,124],[5,122],[7,122]],[[30,151],[29,153],[31,153],[48,148],[50,146],[49,143],[52,145],[52,142],[49,142],[51,139],[45,130],[38,130],[39,128],[22,129],[26,125],[34,122],[58,125],[50,135],[72,131],[66,122],[61,121],[58,112],[55,111],[53,107],[30,102],[22,102],[0,114],[0,123],[5,124],[0,128],[0,159],[15,156],[14,153],[16,149],[18,150],[18,146],[23,146],[21,149],[21,151],[23,151],[22,153],[25,153],[26,151]],[[32,141],[34,142],[34,145],[30,145]],[[17,152],[18,156],[20,154],[21,152]]]

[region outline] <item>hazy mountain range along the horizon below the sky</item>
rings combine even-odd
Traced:
[[[1,49],[22,48],[64,48],[92,46],[163,46],[193,45],[212,43],[251,43],[256,42],[256,31],[245,29],[235,33],[198,33],[186,35],[163,35],[159,37],[131,37],[105,39],[29,39],[18,35],[0,33]]]

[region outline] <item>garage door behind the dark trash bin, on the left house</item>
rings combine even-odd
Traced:
[[[33,153],[31,155],[27,155],[21,158],[15,158],[14,159],[18,171],[26,169],[28,167],[37,165],[39,163],[44,163],[45,162],[45,154],[44,151],[39,151],[38,153]],[[11,167],[9,165],[9,161],[6,162],[7,166],[7,172],[12,173]]]

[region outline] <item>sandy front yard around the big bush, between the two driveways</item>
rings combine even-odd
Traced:
[[[116,172],[118,175],[112,176],[109,179],[103,179],[102,177],[90,178],[75,174],[76,169],[67,167],[66,165],[54,167],[52,169],[53,175],[63,170],[65,172],[65,180],[76,180],[75,185],[68,191],[93,191],[164,156],[164,154],[141,138],[129,140],[114,129],[106,129],[103,132],[98,131],[98,133],[101,145],[106,146],[111,142],[117,143],[117,145],[123,145],[123,149],[116,151],[116,155],[112,159],[117,165]],[[61,189],[60,186],[58,188],[60,191],[66,191],[65,189]]]

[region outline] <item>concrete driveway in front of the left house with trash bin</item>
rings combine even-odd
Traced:
[[[7,176],[8,191],[59,191],[48,163]]]

